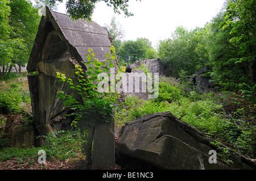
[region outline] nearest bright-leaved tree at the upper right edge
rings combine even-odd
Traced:
[[[250,82],[256,82],[256,1],[234,0],[224,14],[220,26],[230,30],[229,43],[236,49],[237,56],[229,61],[243,64]]]

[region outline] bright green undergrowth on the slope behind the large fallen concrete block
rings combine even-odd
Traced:
[[[170,111],[216,142],[221,142],[250,158],[256,157],[255,103],[230,92],[185,91],[184,85],[159,83],[159,98],[141,100],[128,96],[127,109],[115,113],[119,127],[138,117]]]

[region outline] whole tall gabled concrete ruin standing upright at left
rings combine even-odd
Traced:
[[[56,72],[76,79],[76,64],[87,70],[84,62],[89,48],[98,60],[105,61],[110,46],[112,40],[106,28],[95,22],[71,20],[68,15],[46,7],[27,65],[34,124],[40,135],[53,129],[70,128],[72,120],[65,116],[69,110],[63,105],[63,99],[56,98],[58,91],[79,98],[67,82],[55,78]],[[117,68],[117,62],[113,64]]]

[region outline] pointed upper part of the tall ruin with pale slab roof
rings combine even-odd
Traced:
[[[85,62],[87,50],[92,48],[98,60],[105,60],[112,39],[106,28],[96,22],[72,20],[66,14],[51,11],[46,7],[28,60],[27,71],[37,71],[40,61],[60,64],[68,57]]]

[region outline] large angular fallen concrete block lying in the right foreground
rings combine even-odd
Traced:
[[[127,123],[118,139],[118,151],[149,162],[161,169],[252,169],[255,163],[232,154],[233,165],[217,158],[217,151],[205,134],[177,119],[171,112],[152,113]],[[216,155],[217,157],[217,155]]]

